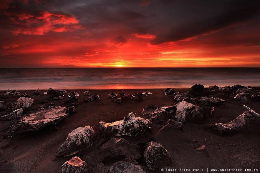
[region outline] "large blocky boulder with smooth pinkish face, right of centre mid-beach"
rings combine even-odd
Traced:
[[[175,118],[179,122],[198,122],[203,119],[204,110],[202,107],[182,101],[176,104]]]

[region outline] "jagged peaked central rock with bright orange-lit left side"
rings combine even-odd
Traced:
[[[105,137],[111,135],[136,136],[143,134],[151,128],[152,124],[148,119],[135,117],[133,112],[128,114],[124,119],[112,123],[99,122],[101,134]]]

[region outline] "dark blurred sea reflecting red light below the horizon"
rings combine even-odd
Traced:
[[[0,76],[0,90],[260,86],[260,68],[1,68]]]

